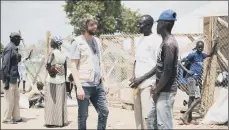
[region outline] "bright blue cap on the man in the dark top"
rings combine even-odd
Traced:
[[[158,20],[176,21],[177,13],[173,10],[165,10],[161,13]]]

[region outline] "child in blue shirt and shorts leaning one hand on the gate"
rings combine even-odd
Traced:
[[[181,60],[180,66],[181,68],[187,72],[187,84],[189,89],[189,101],[188,101],[188,110],[181,117],[181,120],[184,124],[190,123],[192,120],[192,111],[193,109],[201,102],[201,76],[203,69],[204,59],[207,57],[211,57],[216,51],[216,43],[212,48],[212,52],[210,54],[203,53],[204,50],[204,42],[198,41],[196,43],[196,48],[194,52],[190,53],[187,57]],[[182,65],[182,62],[189,61],[191,62],[190,68],[187,69]]]

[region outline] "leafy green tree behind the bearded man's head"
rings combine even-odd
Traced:
[[[120,0],[67,0],[64,5],[70,24],[74,26],[76,35],[80,34],[78,21],[83,14],[89,13],[98,21],[99,34],[114,33],[116,30],[124,33],[137,32],[138,11],[131,11],[121,4]]]

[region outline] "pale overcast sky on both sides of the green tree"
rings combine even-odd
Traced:
[[[67,37],[73,27],[63,10],[64,1],[1,1],[1,41],[9,42],[11,32],[21,31],[25,44],[45,40],[46,32]],[[178,19],[209,3],[209,1],[122,1],[132,10],[157,19],[165,9],[173,9]]]

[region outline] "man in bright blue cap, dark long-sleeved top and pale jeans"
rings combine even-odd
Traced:
[[[148,115],[148,129],[173,129],[172,110],[177,92],[175,78],[177,75],[178,43],[171,34],[176,12],[163,11],[157,21],[157,33],[162,37],[160,51],[157,54],[157,65],[150,72],[135,80],[133,86],[156,74],[156,85],[152,85],[153,106]],[[156,107],[155,107],[156,106]],[[155,121],[154,119],[157,119]]]

